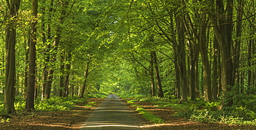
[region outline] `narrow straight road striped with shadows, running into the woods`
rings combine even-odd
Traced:
[[[139,130],[126,104],[117,95],[109,94],[82,125],[81,130],[130,129]]]

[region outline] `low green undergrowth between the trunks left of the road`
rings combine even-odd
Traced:
[[[93,93],[85,95],[84,98],[78,96],[73,97],[51,97],[49,99],[41,100],[35,99],[35,111],[69,111],[76,104],[88,104],[88,106],[95,106],[95,102],[86,102],[89,98],[104,98],[106,93]],[[11,115],[7,114],[3,107],[3,95],[0,95],[0,122],[8,122]],[[26,99],[21,96],[15,97],[15,110],[17,113],[24,111],[26,106]],[[85,105],[86,106],[86,105]]]

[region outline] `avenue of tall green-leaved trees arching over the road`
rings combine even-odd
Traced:
[[[0,0],[0,84],[15,95],[256,94],[256,3],[246,0]]]

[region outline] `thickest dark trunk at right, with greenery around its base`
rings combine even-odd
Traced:
[[[212,6],[215,4],[213,0],[210,1]],[[231,87],[235,84],[233,79],[233,63],[231,57],[232,44],[232,6],[233,1],[226,1],[226,12],[224,10],[224,3],[222,0],[216,1],[216,11],[210,10],[212,15],[212,23],[215,37],[221,48],[221,88],[223,92],[221,100],[221,108],[231,106],[233,100],[225,93],[230,92]],[[214,9],[213,7],[210,9]],[[215,14],[214,12],[217,12]]]

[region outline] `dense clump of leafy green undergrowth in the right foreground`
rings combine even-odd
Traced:
[[[231,97],[234,104],[223,109],[219,109],[220,101],[205,102],[203,99],[198,99],[186,102],[185,105],[189,108],[179,111],[176,115],[196,122],[256,125],[256,96],[235,95]]]

